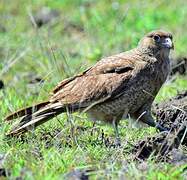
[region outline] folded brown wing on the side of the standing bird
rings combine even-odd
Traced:
[[[118,56],[104,59],[84,73],[62,81],[53,91],[50,102],[79,104],[85,108],[113,98],[131,79],[133,62]]]

